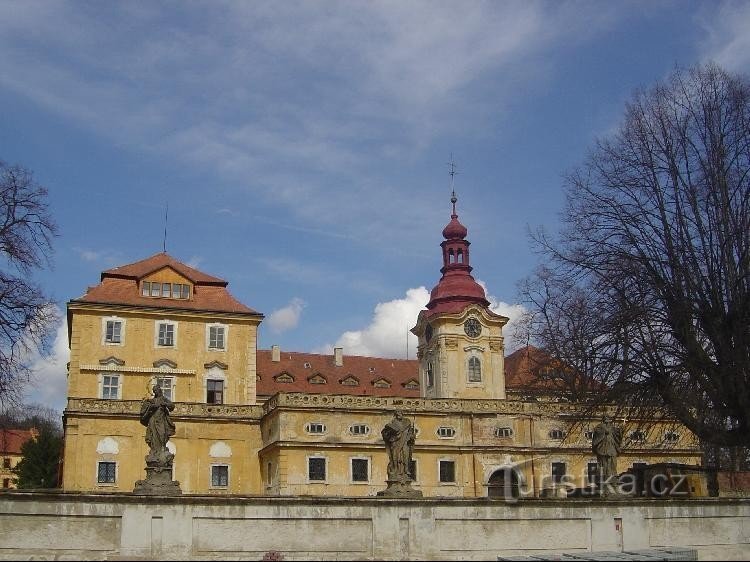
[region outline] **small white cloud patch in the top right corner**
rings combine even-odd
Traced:
[[[711,4],[700,17],[706,30],[703,58],[732,71],[750,67],[750,3],[729,1]]]

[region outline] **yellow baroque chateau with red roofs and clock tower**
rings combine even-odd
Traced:
[[[593,481],[598,420],[535,391],[528,349],[505,356],[508,319],[471,276],[452,203],[442,276],[412,329],[416,360],[258,350],[262,314],[164,253],[103,272],[68,303],[64,489],[133,490],[153,384],[176,405],[169,445],[185,493],[374,496],[388,464],[380,431],[396,410],[417,428],[411,471],[425,496],[492,496],[506,483],[539,496]],[[699,462],[687,430],[623,423],[618,471]]]

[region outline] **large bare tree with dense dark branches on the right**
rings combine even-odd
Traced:
[[[747,78],[707,65],[637,92],[566,199],[559,236],[534,234],[546,266],[521,285],[534,341],[605,383],[594,401],[750,444]]]

